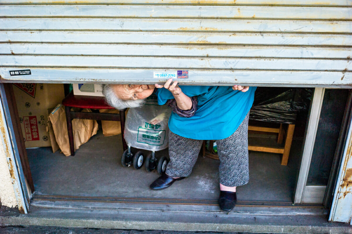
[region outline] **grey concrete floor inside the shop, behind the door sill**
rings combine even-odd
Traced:
[[[261,135],[253,139],[271,138]],[[219,161],[200,156],[190,177],[168,189],[153,191],[149,184],[158,173],[147,172],[144,166],[140,170],[122,167],[120,145],[121,135],[104,137],[98,131],[74,157],[52,153],[51,148],[27,149],[36,195],[218,199]],[[291,202],[301,147],[302,141],[294,139],[287,166],[280,165],[279,154],[250,151],[250,182],[238,187],[238,200]],[[167,149],[156,152],[157,157],[162,155],[168,155]]]

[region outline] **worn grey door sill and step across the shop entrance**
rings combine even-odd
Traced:
[[[352,233],[329,223],[319,206],[239,202],[231,212],[212,200],[35,196],[29,214],[1,212],[1,225],[246,233]]]

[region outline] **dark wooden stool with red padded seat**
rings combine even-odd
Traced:
[[[62,100],[62,105],[65,106],[67,131],[68,131],[68,138],[70,142],[70,150],[71,150],[72,156],[75,155],[75,148],[73,145],[72,119],[95,119],[95,120],[120,121],[121,134],[122,134],[122,148],[124,150],[127,149],[127,144],[124,138],[126,109],[120,110],[119,114],[71,111],[71,108],[73,107],[89,108],[89,109],[114,109],[113,107],[105,103],[104,97],[78,96],[78,95],[73,95],[73,92],[71,92]]]

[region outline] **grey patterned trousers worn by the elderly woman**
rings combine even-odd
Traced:
[[[248,169],[248,119],[249,113],[238,129],[229,137],[216,140],[220,160],[220,183],[228,187],[241,186],[249,181]],[[187,177],[196,163],[202,140],[178,136],[169,131],[170,162],[166,174]]]

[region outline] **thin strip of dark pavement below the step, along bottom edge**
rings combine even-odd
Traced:
[[[179,231],[169,231],[169,230],[121,230],[121,229],[101,229],[101,228],[19,226],[19,227],[0,227],[0,234],[249,234],[249,233],[179,232]]]

